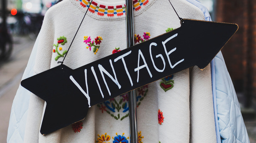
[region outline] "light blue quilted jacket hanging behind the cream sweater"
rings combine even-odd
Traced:
[[[211,21],[208,10],[201,3],[196,0],[187,1],[202,10],[206,21]],[[40,34],[22,79],[33,75],[39,37]],[[221,52],[211,61],[211,74],[217,143],[249,143],[236,92]],[[23,95],[30,95],[30,92],[19,86],[11,108],[7,143],[23,143],[30,98]]]

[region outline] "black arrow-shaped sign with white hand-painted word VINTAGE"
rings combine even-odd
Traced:
[[[21,85],[45,100],[41,134],[86,117],[101,103],[192,66],[204,69],[237,31],[237,24],[184,19],[181,27],[75,70],[63,65]],[[61,74],[59,86],[55,75]]]

